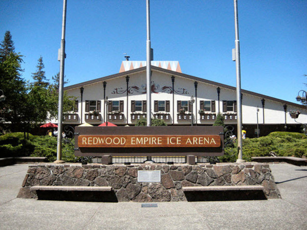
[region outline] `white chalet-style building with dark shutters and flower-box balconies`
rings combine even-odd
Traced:
[[[221,112],[225,124],[236,127],[235,87],[183,74],[178,61],[151,61],[151,72],[152,118],[163,119],[167,125],[205,126],[212,125]],[[118,74],[64,90],[77,98],[75,111],[64,116],[64,125],[99,125],[106,119],[116,125],[134,125],[142,116],[146,118],[146,61],[123,61]],[[295,120],[290,110],[301,114]],[[299,123],[307,122],[306,106],[244,89],[242,113],[248,137],[256,135],[257,123],[259,134],[266,135],[277,130],[298,131]]]

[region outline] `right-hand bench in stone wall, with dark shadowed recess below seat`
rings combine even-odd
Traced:
[[[182,187],[187,201],[267,199],[264,189],[260,185]]]

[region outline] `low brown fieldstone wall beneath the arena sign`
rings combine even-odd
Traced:
[[[161,170],[161,182],[138,182],[138,170]],[[280,198],[269,165],[244,164],[41,164],[29,166],[19,198],[37,198],[31,186],[112,186],[118,201],[185,201],[182,187],[262,185]]]

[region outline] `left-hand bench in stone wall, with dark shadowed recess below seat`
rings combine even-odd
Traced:
[[[32,186],[30,190],[42,200],[118,202],[109,186]]]

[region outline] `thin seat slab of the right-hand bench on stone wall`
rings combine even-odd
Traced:
[[[235,191],[235,190],[264,190],[263,186],[191,186],[182,187],[184,192],[197,191]]]

